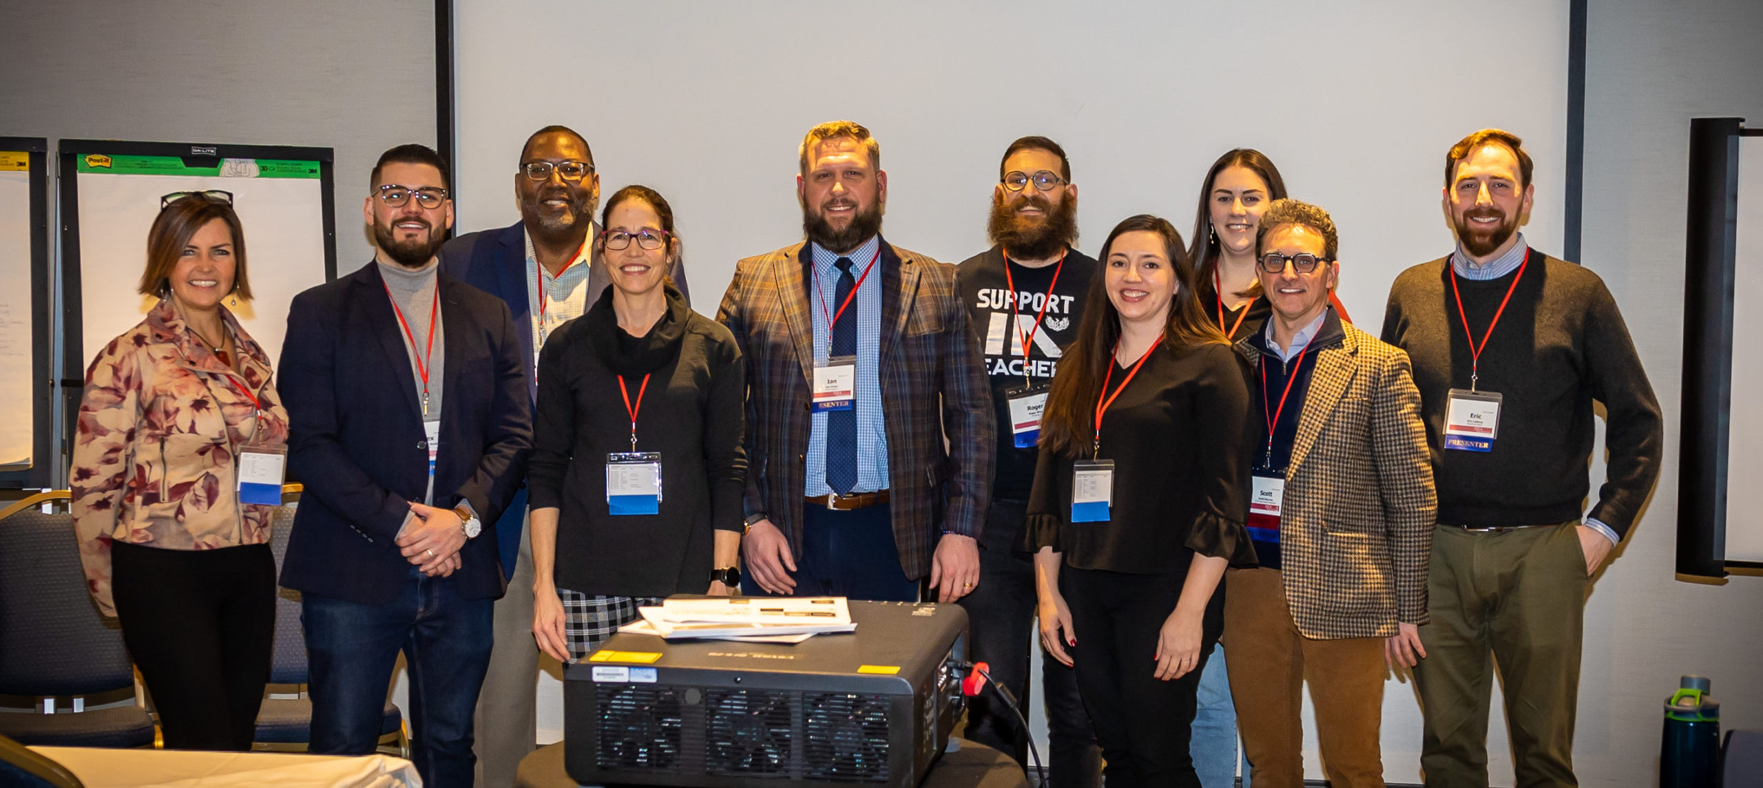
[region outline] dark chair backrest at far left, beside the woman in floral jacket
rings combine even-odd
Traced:
[[[122,629],[86,591],[74,517],[0,518],[0,695],[95,695],[134,686]]]

